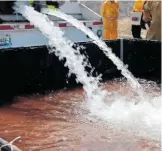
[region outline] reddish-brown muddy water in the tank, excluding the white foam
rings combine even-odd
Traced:
[[[107,91],[127,93],[123,82],[107,82]],[[152,87],[148,91],[160,91]],[[122,135],[108,124],[88,119],[81,88],[44,96],[18,97],[0,108],[0,137],[23,151],[158,151],[160,142]]]

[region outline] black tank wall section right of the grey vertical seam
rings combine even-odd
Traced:
[[[124,40],[124,63],[136,76],[161,81],[161,42]]]

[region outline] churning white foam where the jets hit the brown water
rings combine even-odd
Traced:
[[[162,126],[160,88],[156,92],[157,90],[153,90],[153,86],[147,84],[148,82],[145,81],[144,87],[151,91],[147,93],[147,98],[150,99],[154,107],[148,100],[134,105],[131,92],[122,95],[115,91],[114,94],[110,92],[106,97],[107,101],[112,103],[100,106],[100,108],[98,104],[94,104],[90,116],[106,121],[107,124],[119,130],[121,134],[128,133],[132,136],[160,142]]]

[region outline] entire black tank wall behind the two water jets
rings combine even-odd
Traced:
[[[120,57],[121,40],[107,41]],[[93,43],[79,43],[81,50],[103,80],[120,77],[120,71]],[[123,40],[123,59],[135,77],[161,82],[161,42]],[[44,93],[64,87],[76,86],[75,76],[67,77],[68,68],[46,46],[1,49],[0,51],[0,103],[10,102],[14,96]],[[89,68],[87,67],[87,71]],[[68,83],[67,83],[68,81]]]

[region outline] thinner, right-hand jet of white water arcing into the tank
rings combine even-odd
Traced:
[[[67,15],[59,10],[50,10],[48,9],[47,14],[57,16],[71,23],[76,28],[83,31],[86,35],[88,35],[97,46],[99,46],[105,55],[112,60],[112,62],[117,66],[118,70],[121,70],[121,73],[124,77],[127,78],[129,85],[138,93],[139,99],[136,100],[136,103],[144,100],[144,92],[136,80],[136,78],[132,75],[132,73],[126,68],[124,63],[112,52],[111,48],[109,48],[104,41],[102,41],[97,35],[95,35],[89,28],[87,28],[81,21],[75,19],[74,17]],[[146,96],[145,96],[146,97]],[[141,100],[140,100],[141,99]]]

